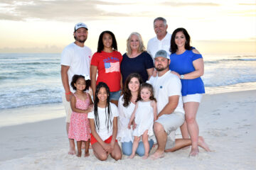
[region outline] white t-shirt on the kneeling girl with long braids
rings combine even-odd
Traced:
[[[110,103],[110,120],[112,124],[109,124],[109,130],[107,130],[106,125],[106,114],[107,114],[107,108],[97,108],[98,109],[98,115],[99,115],[99,121],[100,121],[100,130],[95,126],[95,129],[97,131],[97,134],[100,136],[100,138],[104,141],[107,140],[110,136],[113,134],[113,120],[114,117],[118,117],[118,110],[117,106],[115,106],[113,103]],[[88,113],[88,118],[95,119],[94,111]]]

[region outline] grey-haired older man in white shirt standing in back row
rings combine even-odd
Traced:
[[[167,28],[168,25],[165,18],[158,17],[154,19],[156,37],[151,38],[146,47],[146,51],[149,52],[153,60],[159,50],[165,50],[168,52],[168,56],[170,55],[171,34],[167,32]]]

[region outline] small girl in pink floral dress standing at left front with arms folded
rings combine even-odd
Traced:
[[[85,141],[85,157],[88,157],[90,147],[90,124],[87,114],[92,111],[92,99],[85,90],[89,89],[90,82],[85,81],[82,75],[74,75],[71,86],[75,90],[71,97],[70,104],[73,113],[70,118],[68,138],[77,141],[78,157],[82,155],[82,141]]]

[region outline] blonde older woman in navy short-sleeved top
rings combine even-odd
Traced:
[[[142,36],[139,33],[131,33],[127,39],[127,52],[123,55],[121,74],[123,84],[131,73],[138,73],[145,82],[154,71],[154,62],[146,52]]]

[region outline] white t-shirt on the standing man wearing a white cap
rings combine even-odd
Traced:
[[[69,66],[68,69],[68,84],[70,85],[75,74],[90,76],[90,60],[92,51],[89,47],[80,47],[75,42],[66,46],[61,54],[60,64]],[[70,88],[70,91],[73,91]]]

